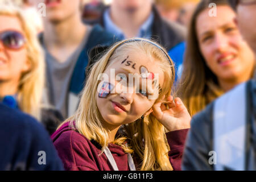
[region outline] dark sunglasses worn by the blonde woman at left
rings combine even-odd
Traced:
[[[26,39],[24,36],[14,30],[0,32],[0,41],[7,49],[18,50],[24,46]]]

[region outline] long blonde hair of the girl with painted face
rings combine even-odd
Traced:
[[[158,99],[171,94],[174,84],[175,70],[172,60],[166,51],[156,46],[156,43],[150,40],[140,39],[141,41],[132,41],[134,39],[123,40],[115,43],[108,52],[103,55],[90,69],[86,85],[81,93],[81,101],[76,113],[65,122],[70,122],[70,126],[76,129],[89,140],[96,140],[102,146],[102,151],[108,146],[108,131],[102,126],[102,116],[97,107],[96,93],[97,86],[100,83],[98,75],[104,73],[105,69],[112,64],[115,57],[123,55],[125,51],[136,51],[145,53],[147,56],[154,57],[159,62],[159,67],[164,72],[164,85]],[[155,45],[154,45],[155,44]],[[168,56],[168,57],[167,57]],[[170,60],[169,60],[170,59]],[[150,63],[149,63],[150,64]],[[135,152],[141,160],[139,168],[141,170],[172,170],[168,151],[170,150],[167,139],[166,129],[159,121],[150,114],[144,119],[138,119],[135,122],[124,126],[126,137],[115,139],[126,152]],[[128,140],[129,146],[124,144]]]

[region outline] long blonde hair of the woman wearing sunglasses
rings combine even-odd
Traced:
[[[22,26],[26,38],[25,48],[30,70],[23,73],[20,78],[17,97],[18,105],[22,111],[40,120],[45,65],[44,53],[38,42],[35,27],[32,27],[30,22],[27,21],[23,10],[11,2],[0,2],[0,15],[18,18]]]

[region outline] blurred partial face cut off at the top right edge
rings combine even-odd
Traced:
[[[238,5],[237,20],[243,38],[256,55],[256,1],[251,5]]]

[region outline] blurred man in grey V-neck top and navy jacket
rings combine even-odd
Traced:
[[[47,98],[64,118],[73,114],[85,81],[88,52],[97,45],[109,46],[114,36],[100,26],[81,20],[82,0],[38,0],[46,4],[40,42],[46,51]]]

